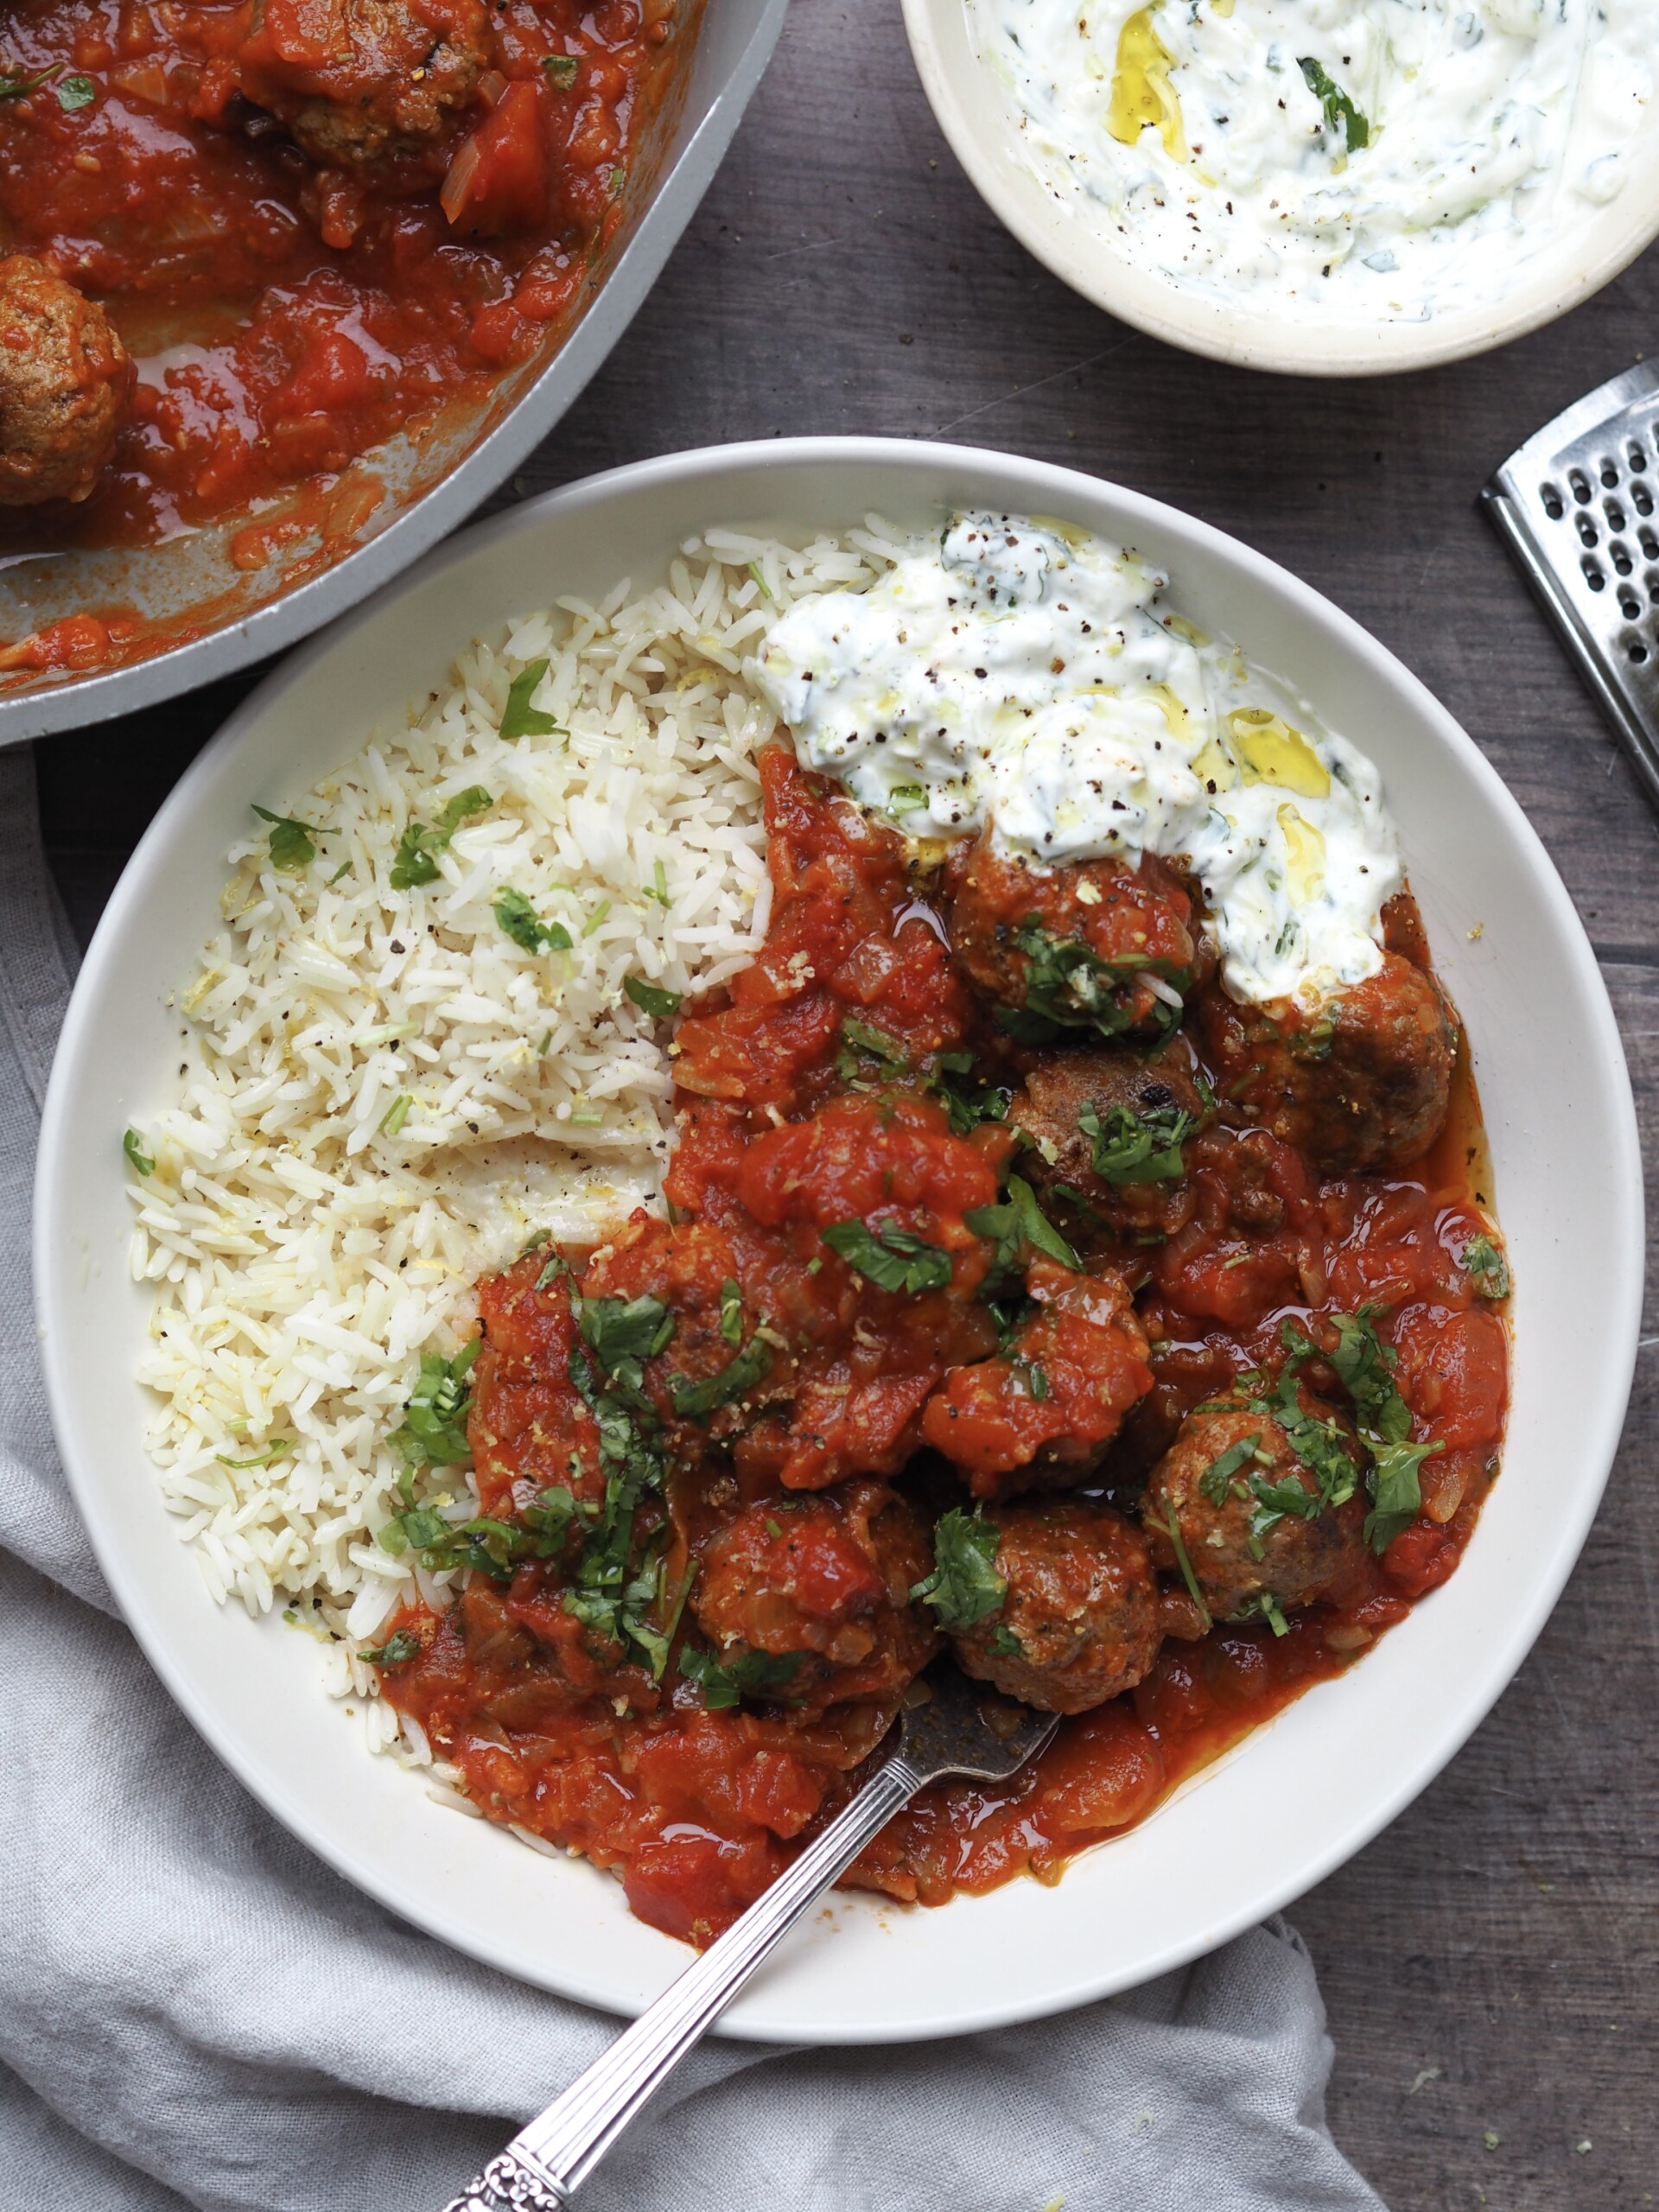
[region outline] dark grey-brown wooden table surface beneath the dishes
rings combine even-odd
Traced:
[[[1237,533],[1398,653],[1522,801],[1595,940],[1652,1146],[1659,832],[1475,493],[1657,327],[1659,250],[1568,321],[1453,369],[1343,385],[1190,361],[1002,232],[922,100],[898,0],[796,0],[653,299],[502,500],[726,438],[876,431],[1071,462]],[[38,748],[82,931],[248,681]],[[1659,2201],[1648,1347],[1606,1506],[1520,1679],[1292,1911],[1336,2037],[1336,2139],[1394,2212]]]

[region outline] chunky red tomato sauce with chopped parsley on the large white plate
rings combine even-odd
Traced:
[[[761,772],[774,918],[730,991],[677,1022],[668,1219],[639,1212],[595,1252],[542,1243],[480,1285],[480,1571],[447,1610],[409,1606],[380,1655],[385,1694],[489,1818],[615,1869],[639,1918],[695,1944],[845,1803],[938,1646],[907,1601],[936,1513],[1082,1440],[1108,1447],[1084,1495],[1133,1517],[1183,1418],[1279,1371],[1287,1325],[1318,1338],[1329,1314],[1369,1314],[1411,1438],[1436,1447],[1420,1509],[1340,1601],[1201,1628],[1166,1575],[1133,1690],[1064,1719],[1009,1785],[927,1790],[847,1876],[925,1905],[1055,1880],[1352,1666],[1455,1571],[1506,1405],[1506,1279],[1471,1259],[1491,1190],[1467,1060],[1407,1172],[1321,1177],[1254,1130],[1252,1230],[1223,1203],[1243,1110],[1219,1102],[1106,1250],[1026,1252],[1009,1336],[995,1208],[1031,1055],[969,989],[927,854],[783,748]],[[745,1679],[710,1650],[723,1604],[759,1624]],[[768,1657],[768,1606],[810,1648]]]

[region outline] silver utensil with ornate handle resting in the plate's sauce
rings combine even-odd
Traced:
[[[900,1717],[898,1747],[852,1803],[445,2212],[562,2212],[761,1960],[925,1783],[945,1774],[1006,1781],[1060,1725],[1057,1714],[995,1697],[951,1666],[918,1688],[927,1694]]]

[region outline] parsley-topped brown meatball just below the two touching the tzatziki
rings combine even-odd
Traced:
[[[1179,1144],[1203,1119],[1186,1037],[1150,1055],[1128,1046],[1044,1053],[1009,1106],[1009,1121],[1033,1144],[1022,1161],[1031,1181],[1040,1190],[1064,1183],[1124,1230],[1164,1223],[1186,1168]]]

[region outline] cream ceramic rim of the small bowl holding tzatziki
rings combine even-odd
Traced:
[[[1495,301],[1436,314],[1429,323],[1374,323],[1332,314],[1292,321],[1239,296],[1219,303],[1133,261],[1108,223],[1062,206],[1026,166],[1013,102],[980,58],[975,15],[984,0],[905,0],[916,71],[938,126],[971,184],[1015,239],[1086,301],[1190,354],[1290,376],[1380,376],[1509,345],[1599,292],[1659,237],[1659,115],[1630,148],[1630,175],[1606,208],[1537,254]]]

